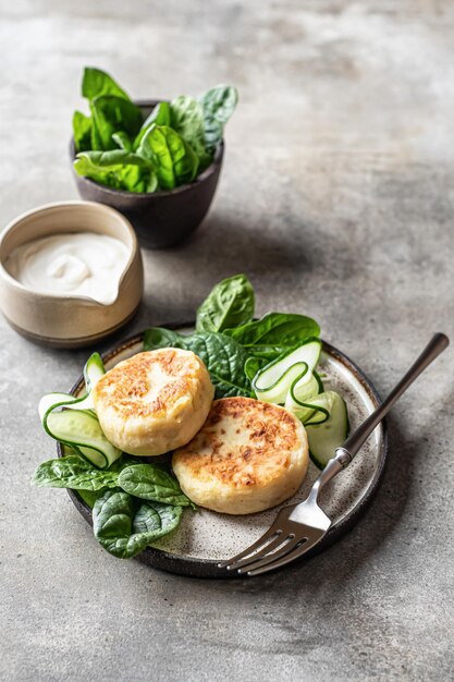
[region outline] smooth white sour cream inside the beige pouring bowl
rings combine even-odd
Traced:
[[[96,232],[44,236],[14,248],[5,261],[27,289],[56,295],[88,296],[113,303],[130,251],[118,239]]]

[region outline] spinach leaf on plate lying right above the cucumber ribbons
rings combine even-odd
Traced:
[[[225,329],[224,333],[254,354],[282,353],[309,337],[318,337],[320,327],[311,317],[293,313],[268,313],[257,321]],[[274,348],[273,348],[274,346]]]

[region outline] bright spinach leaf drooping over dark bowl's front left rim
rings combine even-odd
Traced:
[[[82,151],[74,169],[79,175],[128,192],[155,192],[157,174],[149,161],[124,149]]]

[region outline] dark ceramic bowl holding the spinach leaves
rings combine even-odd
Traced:
[[[145,115],[159,100],[137,101]],[[165,248],[194,232],[204,220],[214,196],[221,172],[224,143],[212,163],[191,184],[155,194],[123,192],[77,175],[73,168],[74,141],[70,156],[78,193],[83,199],[116,208],[133,224],[138,241],[146,248]]]

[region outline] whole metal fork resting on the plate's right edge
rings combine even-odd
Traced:
[[[272,526],[256,543],[240,555],[221,561],[218,567],[237,571],[240,574],[259,575],[294,561],[317,545],[331,526],[331,520],[317,503],[320,491],[348,466],[394,403],[449,343],[450,340],[444,333],[435,333],[381,405],[363,422],[341,448],[335,450],[334,456],[329,460],[315,482],[307,499],[298,504],[283,507]]]

